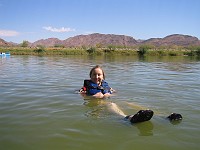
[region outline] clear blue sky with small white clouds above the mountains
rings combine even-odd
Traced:
[[[200,39],[200,0],[0,0],[0,38],[10,42],[103,33],[135,39]]]

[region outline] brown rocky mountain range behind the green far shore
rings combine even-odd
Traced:
[[[137,46],[142,44],[154,46],[200,46],[200,40],[197,37],[182,34],[173,34],[164,38],[151,38],[147,40],[136,40],[131,36],[115,35],[115,34],[100,34],[93,33],[89,35],[77,35],[65,40],[57,38],[48,38],[29,43],[30,47],[42,45],[45,47],[54,47],[55,45],[62,45],[65,47],[81,47],[81,46]],[[0,39],[0,46],[15,46],[11,42],[6,42]]]

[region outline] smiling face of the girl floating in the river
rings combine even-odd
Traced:
[[[100,68],[96,68],[93,70],[91,74],[92,82],[100,85],[103,80],[103,71]]]

